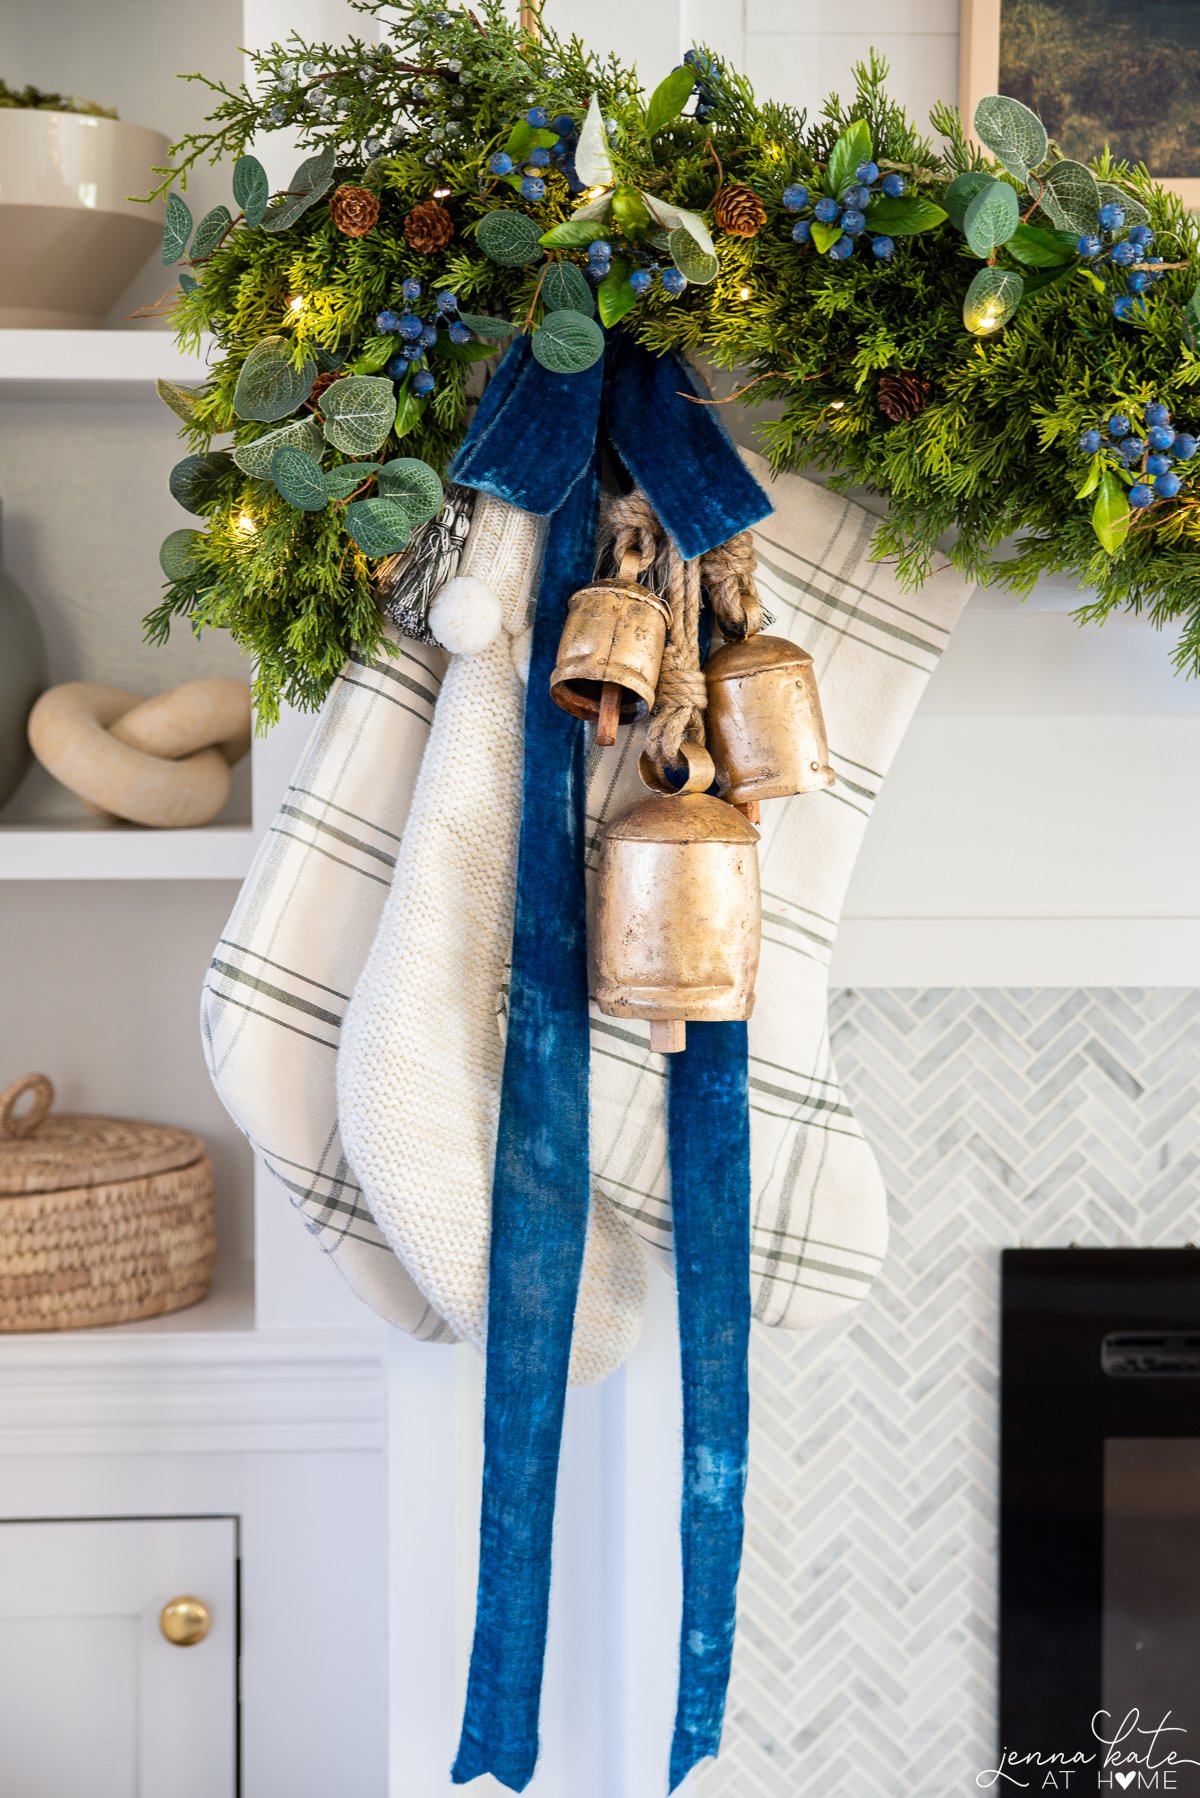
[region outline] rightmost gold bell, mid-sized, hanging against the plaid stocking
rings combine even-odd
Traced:
[[[721,644],[703,669],[716,784],[757,818],[761,798],[833,786],[813,658],[783,636]]]

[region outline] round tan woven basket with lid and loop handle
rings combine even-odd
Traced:
[[[49,1115],[52,1099],[43,1073],[0,1091],[0,1331],[131,1323],[194,1305],[216,1268],[200,1138]]]

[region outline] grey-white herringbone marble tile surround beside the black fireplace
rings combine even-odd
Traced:
[[[873,1295],[756,1327],[738,1651],[698,1798],[959,1798],[995,1766],[999,1250],[1200,1228],[1200,992],[864,991],[837,1064],[891,1192]]]

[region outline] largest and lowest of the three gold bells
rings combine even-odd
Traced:
[[[759,962],[757,831],[705,791],[712,761],[685,743],[687,782],[667,788],[642,755],[655,798],[604,829],[596,888],[596,1001],[648,1018],[649,1046],[684,1048],[685,1019],[748,1018]]]

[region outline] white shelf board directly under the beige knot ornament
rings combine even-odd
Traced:
[[[0,825],[7,881],[239,881],[250,867],[250,825],[194,831],[133,825]]]

